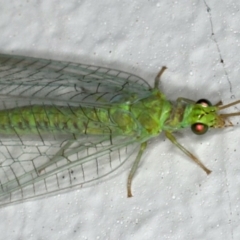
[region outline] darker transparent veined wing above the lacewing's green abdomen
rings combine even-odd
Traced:
[[[147,97],[151,87],[135,75],[83,64],[0,55],[0,97],[34,103],[110,106]]]

